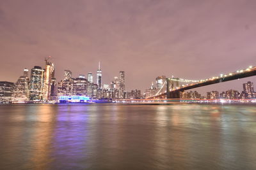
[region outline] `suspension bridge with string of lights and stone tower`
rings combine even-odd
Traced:
[[[236,72],[228,74],[220,74],[220,76],[214,76],[212,78],[207,78],[204,80],[185,80],[182,78],[166,78],[163,87],[156,93],[154,97],[148,97],[147,99],[179,99],[180,92],[185,90],[195,89],[197,87],[203,87],[205,85],[212,85],[215,83],[221,83],[230,80],[237,80],[239,78],[246,78],[256,75],[256,66],[248,67],[247,69],[237,70]],[[181,85],[179,87],[173,87],[173,82],[180,81],[185,83],[190,83],[186,85]]]

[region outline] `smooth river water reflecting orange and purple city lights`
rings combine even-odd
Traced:
[[[0,169],[256,169],[256,106],[0,105]]]

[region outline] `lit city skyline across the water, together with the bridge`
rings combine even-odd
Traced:
[[[189,88],[189,83],[199,85],[202,83],[210,83],[216,81],[217,83],[229,80],[236,80],[244,78],[244,76],[253,76],[256,67],[250,66],[246,69],[240,69],[234,72],[220,74],[220,76],[213,76],[204,80],[186,80],[182,78],[167,78],[166,76],[157,76],[156,81],[152,81],[150,89],[146,89],[145,93],[141,90],[134,89],[129,92],[125,89],[125,71],[120,71],[119,76],[114,76],[111,83],[104,83],[102,81],[102,70],[97,69],[97,80],[93,82],[93,74],[88,72],[79,74],[79,76],[72,76],[72,71],[65,69],[63,79],[57,81],[54,77],[55,67],[51,62],[51,56],[45,57],[45,67],[34,66],[31,69],[29,80],[29,69],[24,68],[22,76],[19,76],[17,81],[1,81],[1,97],[6,101],[27,102],[27,101],[61,101],[61,99],[76,100],[78,96],[81,101],[83,99],[92,100],[116,100],[116,99],[150,99],[166,92],[166,85],[169,84],[169,90],[177,90],[182,87]],[[253,74],[252,74],[253,73]],[[232,78],[236,77],[236,78]],[[219,80],[220,78],[220,80]],[[169,83],[168,83],[169,82]],[[200,87],[201,85],[199,85]],[[193,88],[196,89],[196,88]],[[165,91],[164,91],[165,90]],[[84,98],[87,97],[87,98]],[[170,96],[165,96],[170,99]],[[173,96],[175,97],[175,96]],[[180,99],[253,99],[256,97],[256,92],[253,89],[253,82],[248,81],[243,83],[243,91],[236,89],[218,90],[211,89],[206,93],[206,96],[198,93],[196,90],[182,90],[179,92]],[[2,99],[2,98],[1,98]]]

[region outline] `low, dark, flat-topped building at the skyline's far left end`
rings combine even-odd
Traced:
[[[9,81],[0,81],[0,102],[12,101],[14,89],[14,83]]]

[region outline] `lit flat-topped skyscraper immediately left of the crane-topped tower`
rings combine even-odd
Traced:
[[[31,78],[29,83],[29,99],[42,100],[44,86],[44,69],[35,66],[31,69]]]

